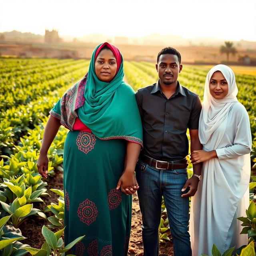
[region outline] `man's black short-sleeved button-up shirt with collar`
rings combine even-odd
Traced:
[[[139,89],[136,100],[143,126],[143,154],[157,160],[173,161],[188,155],[187,129],[198,129],[201,102],[197,94],[178,82],[169,99],[159,81]]]

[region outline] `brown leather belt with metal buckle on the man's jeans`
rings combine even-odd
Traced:
[[[149,166],[153,166],[154,168],[160,169],[160,170],[184,169],[184,168],[187,168],[188,166],[188,160],[186,160],[186,158],[182,160],[165,162],[165,161],[158,161],[146,155],[140,155],[139,160],[142,160],[143,162],[147,163]]]

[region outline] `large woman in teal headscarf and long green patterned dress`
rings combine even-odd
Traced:
[[[65,244],[86,235],[73,249],[77,256],[127,255],[142,126],[123,77],[119,50],[97,46],[88,73],[50,111],[44,131],[38,170],[46,178],[48,148],[61,124],[70,130],[63,161]]]

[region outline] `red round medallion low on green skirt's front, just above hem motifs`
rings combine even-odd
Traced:
[[[79,205],[77,213],[80,220],[86,225],[90,226],[90,224],[92,224],[92,222],[94,222],[98,216],[98,209],[94,202],[87,198]]]

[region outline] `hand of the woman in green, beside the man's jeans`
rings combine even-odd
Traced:
[[[135,194],[139,188],[138,182],[132,171],[124,171],[118,180],[116,189],[121,188],[121,191],[126,195]]]

